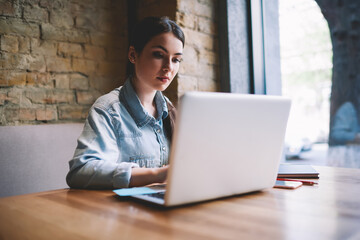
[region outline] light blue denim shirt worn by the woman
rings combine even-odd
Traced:
[[[155,95],[158,116],[143,108],[130,79],[96,100],[89,111],[66,181],[74,188],[124,188],[133,167],[168,163],[169,141],[163,119],[167,99]]]

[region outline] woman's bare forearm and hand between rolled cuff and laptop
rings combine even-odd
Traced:
[[[168,166],[161,168],[133,168],[129,187],[139,187],[166,181]]]

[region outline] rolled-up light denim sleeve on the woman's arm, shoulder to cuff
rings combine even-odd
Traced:
[[[72,188],[114,189],[129,186],[135,163],[118,163],[120,148],[112,116],[99,106],[90,109],[69,161],[67,184]]]

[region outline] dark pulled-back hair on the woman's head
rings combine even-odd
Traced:
[[[129,47],[134,47],[137,54],[141,54],[145,45],[155,36],[161,33],[172,32],[179,39],[183,47],[185,45],[185,35],[181,28],[168,17],[146,17],[141,20],[132,30],[129,40]],[[135,72],[134,65],[128,61],[127,75],[131,76]]]

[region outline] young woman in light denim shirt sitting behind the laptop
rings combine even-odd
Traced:
[[[148,17],[132,33],[132,72],[89,111],[66,181],[74,188],[124,188],[166,180],[174,107],[161,93],[174,79],[185,43],[166,17]]]

